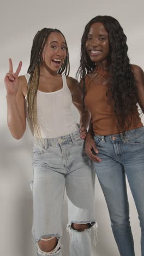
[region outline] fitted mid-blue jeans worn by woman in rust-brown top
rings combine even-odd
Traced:
[[[119,135],[94,136],[101,158],[95,162],[101,188],[109,209],[111,226],[121,256],[134,256],[133,235],[125,174],[133,194],[141,227],[141,254],[144,256],[144,127]]]

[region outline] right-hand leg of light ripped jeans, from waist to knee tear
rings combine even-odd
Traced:
[[[80,138],[68,149],[72,163],[65,183],[69,223],[95,222],[95,170],[84,147],[84,141]]]

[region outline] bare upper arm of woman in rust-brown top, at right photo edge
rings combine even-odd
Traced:
[[[131,65],[139,94],[139,105],[144,113],[144,72],[141,67]]]

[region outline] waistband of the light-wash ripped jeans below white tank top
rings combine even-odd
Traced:
[[[59,144],[69,144],[70,142],[74,143],[78,139],[80,139],[80,132],[75,131],[73,133],[70,133],[69,135],[64,135],[57,138],[34,138],[34,146],[39,145],[42,148],[47,148],[50,146],[55,147],[58,146]]]

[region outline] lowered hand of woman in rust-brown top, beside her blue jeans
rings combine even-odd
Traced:
[[[86,154],[88,155],[89,159],[91,159],[93,162],[101,162],[102,160],[100,158],[98,158],[97,155],[98,154],[98,149],[95,145],[95,141],[92,138],[91,134],[88,132],[87,133],[87,137],[85,140],[85,151]],[[95,152],[95,154],[93,154],[93,151]]]

